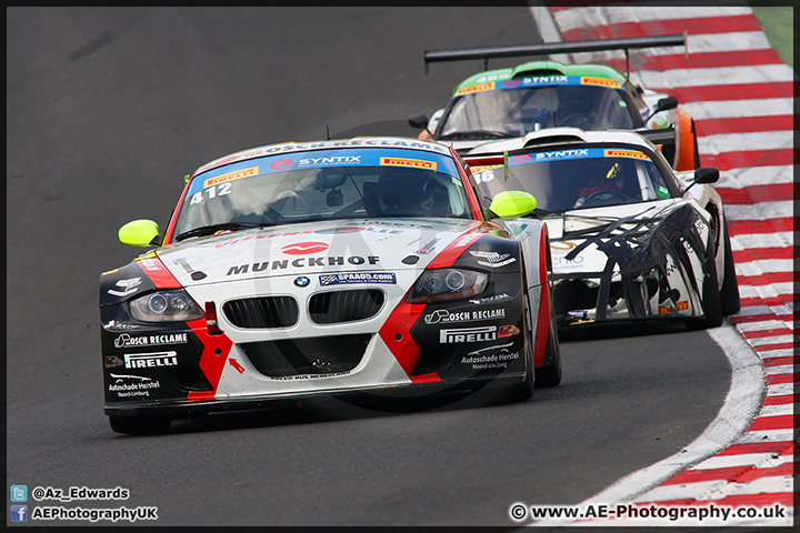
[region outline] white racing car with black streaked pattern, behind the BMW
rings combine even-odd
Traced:
[[[709,328],[739,311],[717,169],[676,173],[637,133],[576,128],[490,142],[464,159],[484,201],[509,189],[536,197],[516,225],[549,228],[560,326],[678,318]]]

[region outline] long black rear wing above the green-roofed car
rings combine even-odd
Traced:
[[[511,47],[462,48],[456,50],[426,50],[426,74],[429,63],[443,61],[464,61],[482,59],[484,70],[489,69],[491,58],[516,58],[521,56],[548,56],[551,53],[597,52],[606,50],[624,50],[626,73],[630,77],[630,58],[628,50],[640,48],[681,46],[689,54],[687,32],[673,36],[630,37],[619,39],[593,39],[588,41],[541,42],[538,44],[520,44]]]

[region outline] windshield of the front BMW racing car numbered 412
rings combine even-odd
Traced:
[[[401,149],[316,150],[246,160],[196,177],[174,235],[332,219],[467,219],[468,205],[448,157]]]

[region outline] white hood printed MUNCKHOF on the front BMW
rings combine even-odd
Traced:
[[[309,273],[422,271],[480,225],[452,219],[311,222],[193,239],[156,253],[183,286]]]

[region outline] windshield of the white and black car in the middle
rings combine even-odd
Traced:
[[[556,213],[670,198],[650,157],[628,147],[516,152],[508,182],[502,165],[471,170],[484,197],[521,190],[536,197],[537,209]]]

